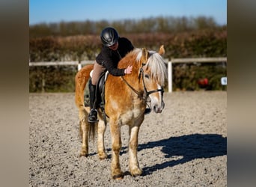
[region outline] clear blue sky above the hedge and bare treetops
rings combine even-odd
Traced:
[[[227,24],[227,0],[30,0],[29,24],[211,16]]]

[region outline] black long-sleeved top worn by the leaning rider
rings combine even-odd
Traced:
[[[114,51],[109,49],[109,47],[103,46],[100,54],[97,55],[96,61],[98,64],[103,65],[103,67],[106,67],[106,70],[112,76],[124,76],[125,69],[118,69],[118,62],[133,49],[132,43],[126,37],[119,37],[118,49]]]

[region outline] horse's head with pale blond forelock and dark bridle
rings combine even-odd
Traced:
[[[163,102],[163,87],[167,76],[167,69],[162,58],[164,53],[164,46],[159,48],[159,52],[142,49],[141,55],[138,58],[141,62],[138,77],[142,79],[147,104],[156,113],[161,113],[165,106]]]

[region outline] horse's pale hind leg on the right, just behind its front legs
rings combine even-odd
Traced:
[[[98,123],[97,129],[97,150],[100,159],[106,159],[108,155],[106,154],[105,144],[104,144],[104,134],[106,131],[106,125],[103,120]]]

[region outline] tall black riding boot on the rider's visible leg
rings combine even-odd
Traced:
[[[91,111],[88,115],[88,122],[91,122],[91,123],[95,123],[97,122],[97,109],[96,109],[96,106],[95,106],[95,99],[96,99],[96,95],[95,95],[95,92],[96,92],[96,85],[92,85],[91,84],[91,80],[89,82],[89,94],[90,94],[90,108],[91,108]]]

